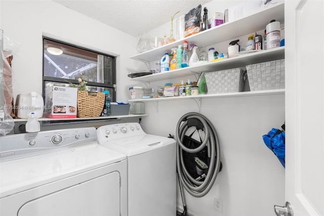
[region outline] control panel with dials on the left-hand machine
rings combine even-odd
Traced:
[[[62,147],[97,143],[95,127],[49,130],[0,136],[0,160],[45,154]]]

